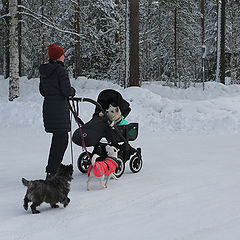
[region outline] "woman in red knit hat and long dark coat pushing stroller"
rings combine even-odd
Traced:
[[[63,160],[71,130],[68,97],[75,95],[68,72],[64,68],[64,50],[48,46],[49,63],[41,64],[39,90],[44,97],[43,122],[45,131],[52,133],[52,142],[46,166],[47,177],[54,175]]]

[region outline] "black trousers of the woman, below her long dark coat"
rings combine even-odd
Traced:
[[[55,174],[63,160],[68,145],[68,133],[53,133],[52,143],[48,156],[47,173]]]

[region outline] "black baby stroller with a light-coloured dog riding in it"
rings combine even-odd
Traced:
[[[91,165],[90,158],[94,153],[100,155],[102,160],[105,159],[105,146],[107,144],[114,145],[120,149],[117,160],[118,167],[114,174],[117,178],[121,177],[124,173],[127,161],[130,161],[129,167],[133,173],[141,170],[143,165],[141,148],[135,149],[129,144],[129,141],[134,141],[138,136],[138,123],[115,125],[106,114],[109,104],[119,106],[124,118],[131,111],[129,103],[122,98],[119,92],[113,89],[106,89],[100,92],[97,101],[89,98],[74,97],[71,98],[69,102],[70,110],[79,126],[79,128],[75,130],[72,140],[85,150],[79,155],[77,160],[78,169],[82,173],[87,173]],[[86,124],[84,124],[78,116],[79,102],[89,102],[96,106],[93,118]],[[102,117],[99,116],[100,112],[103,114]],[[103,137],[106,138],[106,143],[101,141]],[[94,147],[92,152],[87,150],[87,147],[90,146]]]

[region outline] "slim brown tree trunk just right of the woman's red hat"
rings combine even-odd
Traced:
[[[76,36],[75,43],[75,78],[81,76],[81,45],[80,45],[80,0],[75,6],[75,32],[79,34]]]

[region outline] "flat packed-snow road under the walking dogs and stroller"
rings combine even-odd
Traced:
[[[21,178],[44,177],[50,135],[31,128],[0,129],[0,239],[240,239],[240,134],[154,135],[141,130],[144,166],[127,168],[109,189],[86,191],[75,164],[70,205],[41,214],[22,208]],[[75,158],[79,149],[74,147]],[[70,162],[69,150],[65,163]]]

